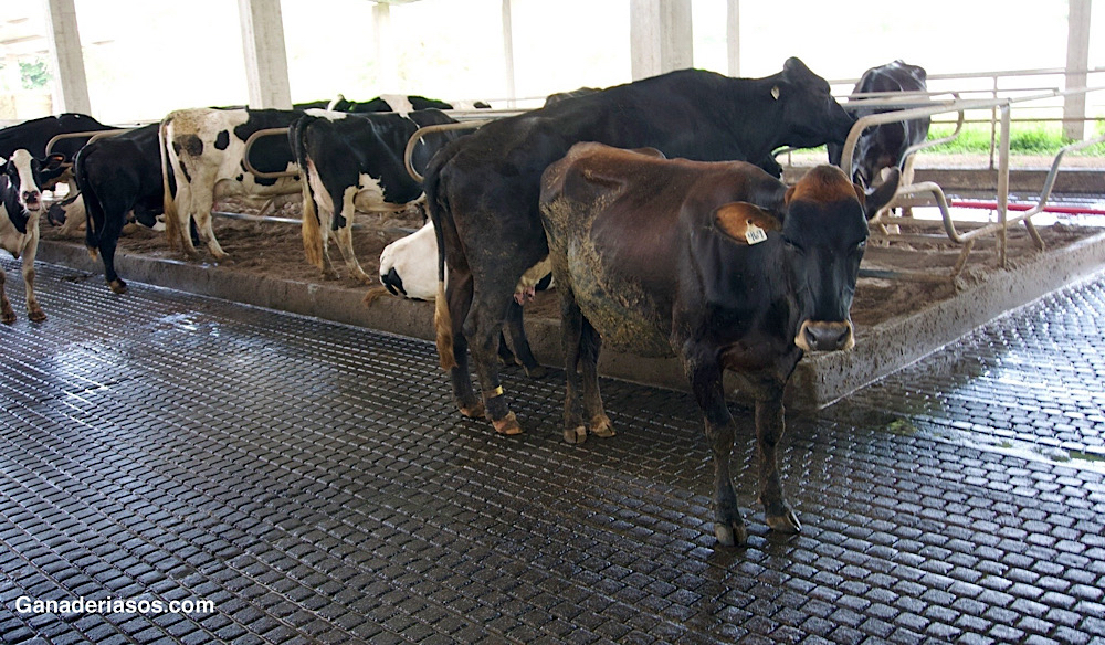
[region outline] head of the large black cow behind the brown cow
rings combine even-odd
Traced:
[[[829,83],[798,59],[788,59],[779,82],[770,88],[782,105],[780,146],[814,148],[843,144],[855,119],[829,93]]]

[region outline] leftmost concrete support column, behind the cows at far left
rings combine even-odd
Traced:
[[[45,6],[50,63],[54,72],[54,112],[91,114],[88,80],[84,74],[84,54],[73,0],[46,0]]]

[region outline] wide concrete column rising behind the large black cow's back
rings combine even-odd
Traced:
[[[691,0],[631,0],[630,55],[634,81],[691,67]]]

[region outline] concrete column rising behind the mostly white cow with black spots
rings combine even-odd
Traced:
[[[252,108],[292,108],[280,0],[238,0]]]

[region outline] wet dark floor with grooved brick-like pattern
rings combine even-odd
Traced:
[[[801,536],[735,406],[718,549],[685,394],[604,380],[618,436],[569,446],[511,369],[502,437],[428,342],[53,265],[32,324],[2,262],[2,642],[1105,642],[1105,276],[792,414]]]

